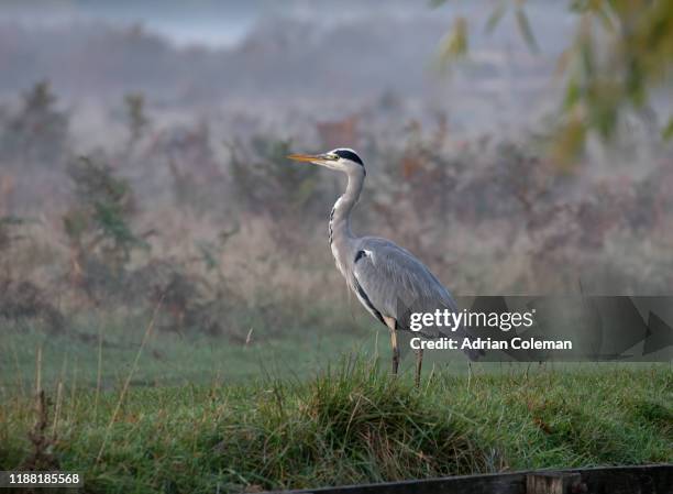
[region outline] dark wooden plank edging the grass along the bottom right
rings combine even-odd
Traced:
[[[570,491],[563,494],[673,494],[673,464],[463,475],[286,491],[286,494],[527,494],[529,475],[560,474],[570,475],[573,480]],[[577,475],[580,483],[576,482]]]

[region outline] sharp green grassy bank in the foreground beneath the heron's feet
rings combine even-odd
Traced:
[[[254,492],[673,461],[668,365],[434,373],[416,389],[409,375],[393,380],[358,361],[308,380],[121,393],[48,392],[44,453],[82,472],[91,492]],[[34,450],[33,402],[2,402],[2,469]]]

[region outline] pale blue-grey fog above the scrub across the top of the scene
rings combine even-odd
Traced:
[[[418,118],[451,110],[459,127],[530,124],[550,110],[558,83],[550,74],[572,18],[554,2],[531,3],[540,46],[531,53],[508,17],[485,32],[492,10],[490,2],[13,2],[0,9],[0,95],[47,77],[69,102],[143,91],[156,105],[234,105],[264,118],[306,106],[342,118],[393,95]],[[437,48],[455,14],[472,20],[472,56],[444,74]]]

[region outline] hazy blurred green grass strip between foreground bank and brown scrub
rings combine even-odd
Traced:
[[[263,372],[308,377],[341,353],[360,353],[365,348],[376,352],[378,348],[382,354],[388,354],[387,331],[374,331],[358,322],[332,320],[331,315],[318,316],[322,317],[320,330],[309,331],[296,325],[286,327],[282,334],[274,334],[265,330],[264,325],[251,325],[254,329],[247,345],[227,337],[154,329],[141,352],[132,384],[242,383]],[[0,397],[3,392],[31,388],[35,382],[38,349],[45,385],[62,381],[77,387],[96,387],[99,363],[102,388],[120,385],[131,371],[148,322],[146,315],[115,317],[104,314],[77,320],[67,332],[47,334],[30,320],[9,322],[0,319]]]

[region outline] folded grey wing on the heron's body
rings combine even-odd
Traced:
[[[353,263],[353,288],[363,305],[377,318],[391,317],[400,330],[410,329],[413,312],[434,312],[437,309],[457,311],[449,290],[410,252],[378,238],[363,238]],[[383,322],[383,321],[382,321]],[[452,333],[448,328],[427,328],[426,338],[464,336],[460,328]],[[471,354],[475,359],[477,354]]]

